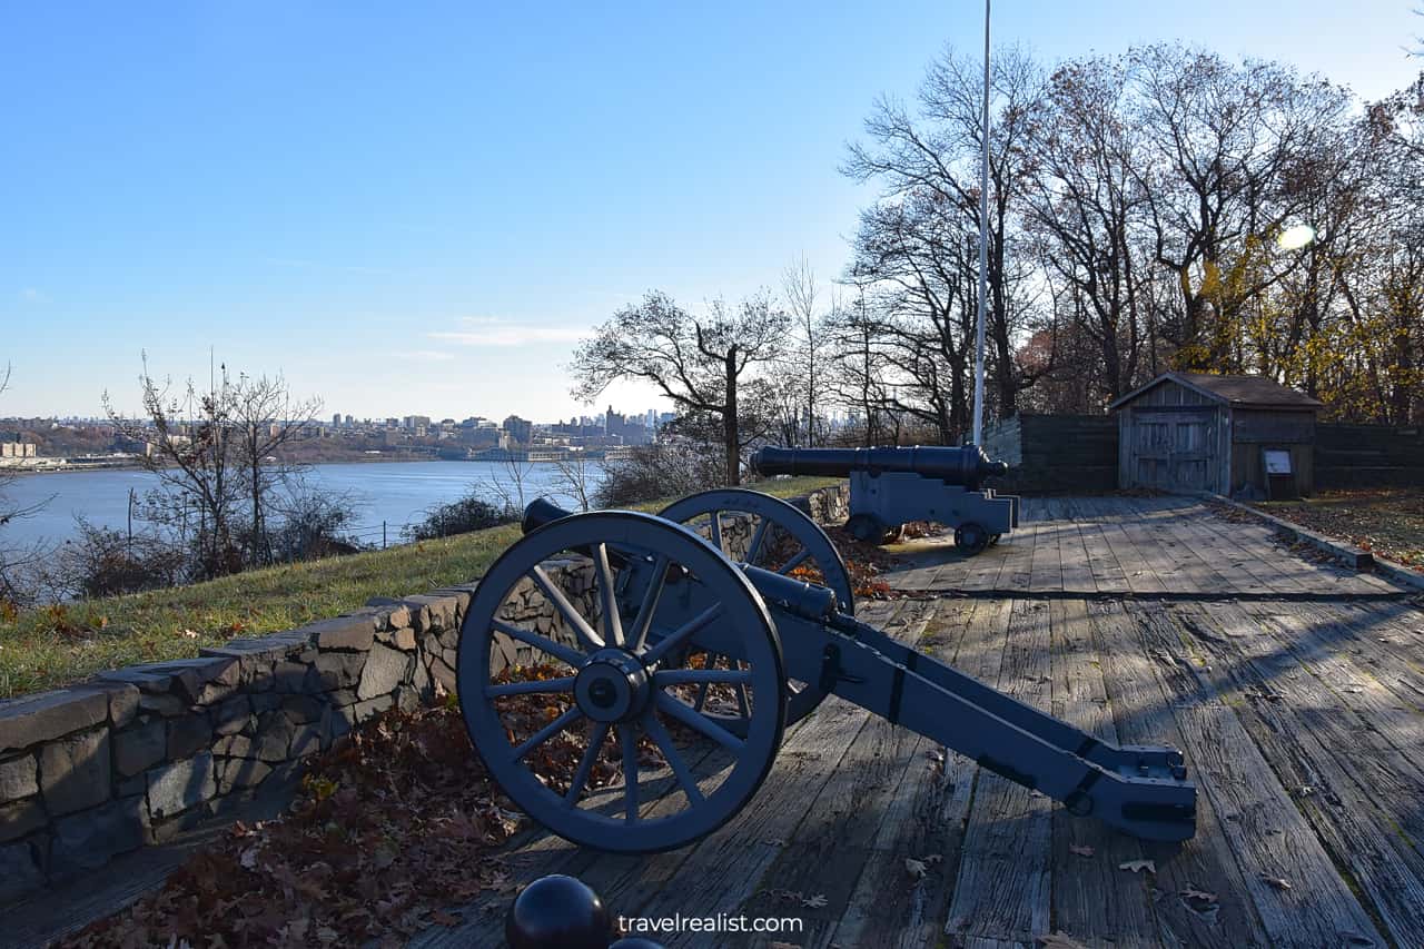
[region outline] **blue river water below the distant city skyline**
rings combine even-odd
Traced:
[[[554,465],[520,465],[524,500],[547,496],[570,504]],[[590,490],[602,479],[602,467],[587,467]],[[356,510],[350,533],[367,544],[382,544],[382,524],[389,543],[402,543],[400,529],[424,520],[434,504],[456,500],[477,490],[491,502],[506,494],[515,502],[517,487],[510,465],[500,462],[349,462],[313,465],[306,484],[320,492],[349,493]],[[6,489],[4,507],[44,503],[36,514],[0,529],[0,544],[23,547],[33,541],[63,541],[75,533],[74,517],[97,527],[124,530],[128,523],[130,489],[140,499],[155,487],[158,477],[142,470],[94,470],[26,474]],[[134,529],[142,522],[134,523]]]

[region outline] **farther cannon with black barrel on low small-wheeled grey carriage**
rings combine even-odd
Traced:
[[[897,536],[911,520],[954,529],[954,543],[977,554],[1018,526],[1018,499],[983,487],[1008,473],[977,445],[964,447],[786,449],[752,456],[762,474],[820,474],[850,479],[850,520],[860,540]]]

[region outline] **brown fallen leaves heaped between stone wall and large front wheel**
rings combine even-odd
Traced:
[[[518,727],[547,720],[541,695],[508,698],[525,700],[511,704]],[[567,788],[575,742],[547,744],[540,777]],[[590,787],[614,774],[600,762]],[[470,747],[459,705],[392,711],[312,761],[281,819],[235,824],[161,891],[58,945],[404,945],[426,926],[461,925],[450,906],[508,892],[496,848],[521,819]]]

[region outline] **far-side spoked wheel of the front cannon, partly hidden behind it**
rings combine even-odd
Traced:
[[[745,544],[728,534],[726,514],[733,517],[743,514],[752,519],[750,537]],[[819,570],[820,579],[816,583],[836,594],[836,607],[849,616],[856,614],[856,594],[850,586],[846,561],[840,559],[840,551],[826,531],[793,504],[745,487],[723,487],[684,497],[658,516],[692,527],[711,539],[712,546],[721,547],[732,560],[780,574],[792,574],[797,567]],[[718,655],[708,655],[703,661],[708,665],[728,664]],[[703,711],[706,691],[706,687],[699,687],[695,702],[698,711]],[[826,697],[826,693],[815,684],[799,680],[786,683],[786,691],[787,725],[816,711],[816,705]],[[736,700],[736,715],[703,714],[712,715],[733,731],[742,731],[745,724],[739,720],[745,702],[740,694]]]

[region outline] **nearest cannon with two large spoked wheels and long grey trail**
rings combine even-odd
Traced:
[[[1148,839],[1195,832],[1179,752],[1099,741],[862,623],[839,554],[795,507],[733,490],[664,514],[537,502],[466,613],[457,688],[470,737],[510,798],[560,836],[652,852],[709,834],[756,794],[783,730],[829,694],[1075,814]],[[728,519],[750,537],[740,563]],[[551,560],[580,560],[581,588],[547,571]],[[530,583],[561,630],[511,618]],[[511,648],[523,674],[496,661]],[[571,779],[551,784],[538,767],[550,758]]]

